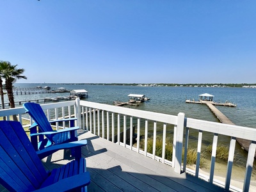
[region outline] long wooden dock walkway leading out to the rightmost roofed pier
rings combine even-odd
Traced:
[[[205,103],[209,109],[211,109],[212,113],[220,120],[221,123],[223,124],[229,124],[229,125],[235,125],[232,121],[230,121],[227,116],[225,116],[221,111],[219,111],[217,108],[215,108],[211,102],[206,102]],[[240,138],[236,138],[236,141],[241,145],[241,147],[246,150],[247,152],[249,151],[249,147],[251,144],[251,141],[249,140],[243,140]],[[254,155],[256,158],[256,153]]]

